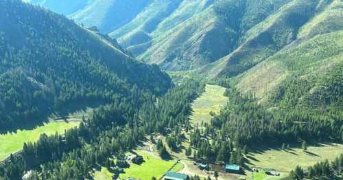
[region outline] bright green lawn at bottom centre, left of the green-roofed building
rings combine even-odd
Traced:
[[[125,169],[126,173],[120,175],[121,179],[128,177],[141,180],[151,180],[152,177],[159,179],[176,163],[176,161],[164,161],[146,153],[140,155],[143,156],[145,162],[141,165],[130,164],[130,168]]]

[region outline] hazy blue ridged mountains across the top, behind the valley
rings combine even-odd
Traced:
[[[237,76],[289,44],[343,25],[338,0],[84,3],[69,18],[110,33],[139,60],[169,71],[201,68],[211,78]]]

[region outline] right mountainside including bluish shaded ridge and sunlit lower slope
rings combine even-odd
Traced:
[[[297,9],[312,15],[302,21]],[[342,12],[342,1],[292,1],[248,30],[242,38],[248,43],[202,70],[211,78],[232,77],[241,91],[255,93],[261,103],[276,109],[342,112]],[[287,16],[301,23],[287,25]],[[275,32],[285,36],[274,41]],[[269,34],[265,39],[271,41],[262,46],[261,35],[252,34]]]

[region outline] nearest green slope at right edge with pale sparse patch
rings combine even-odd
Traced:
[[[239,77],[237,87],[272,106],[341,111],[343,31],[285,49]]]

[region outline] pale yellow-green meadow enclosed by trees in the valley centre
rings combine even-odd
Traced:
[[[193,102],[193,115],[191,115],[193,123],[210,122],[211,115],[209,113],[219,111],[220,107],[228,102],[224,92],[224,87],[206,85],[205,92]]]

